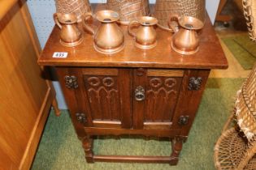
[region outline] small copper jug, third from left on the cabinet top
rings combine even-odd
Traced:
[[[157,45],[157,34],[154,25],[158,19],[150,16],[142,16],[128,25],[128,33],[135,38],[135,46],[140,49],[152,49]],[[132,32],[133,26],[139,26],[137,32]]]

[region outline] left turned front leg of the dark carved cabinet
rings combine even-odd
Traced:
[[[83,147],[87,163],[93,163],[93,139],[86,136],[83,138]]]

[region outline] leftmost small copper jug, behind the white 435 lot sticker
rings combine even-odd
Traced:
[[[80,45],[83,41],[83,34],[77,27],[76,15],[55,13],[54,21],[61,29],[59,33],[61,45],[67,47]]]

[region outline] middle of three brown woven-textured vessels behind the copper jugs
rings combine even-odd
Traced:
[[[119,13],[120,23],[128,24],[140,16],[150,15],[149,0],[107,0],[109,10]]]

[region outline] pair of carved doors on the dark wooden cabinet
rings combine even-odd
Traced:
[[[170,129],[184,70],[57,70],[63,88],[75,99],[72,105],[76,101],[74,113],[85,114],[86,126]]]

